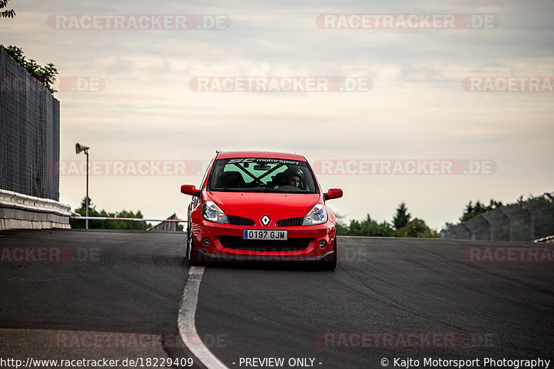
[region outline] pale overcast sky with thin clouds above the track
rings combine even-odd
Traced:
[[[413,217],[436,229],[455,222],[469,200],[512,202],[554,191],[554,93],[546,83],[554,76],[552,1],[12,0],[8,8],[17,16],[0,19],[1,44],[55,64],[66,81],[55,94],[61,160],[84,160],[75,155],[80,142],[91,147],[91,160],[105,162],[202,162],[216,150],[240,149],[301,153],[312,164],[334,160],[334,169],[348,160],[492,161],[493,171],[475,175],[364,174],[353,164],[353,174],[316,171],[324,190],[343,189],[328,205],[346,219],[390,221],[406,202]],[[322,14],[488,15],[494,23],[322,29]],[[219,15],[227,23],[220,30],[136,30],[128,23],[64,30],[48,22],[56,15]],[[530,76],[550,77],[546,85],[540,79],[543,92],[478,93],[462,84],[467,77]],[[194,77],[364,77],[371,88],[197,92]],[[67,81],[74,91],[62,91]],[[190,198],[179,187],[202,179],[127,174],[91,176],[98,209],[184,218]],[[84,186],[84,176],[62,173],[60,201],[78,207]]]

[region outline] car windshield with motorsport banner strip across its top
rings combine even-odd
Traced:
[[[307,162],[274,158],[215,160],[208,191],[319,193]]]

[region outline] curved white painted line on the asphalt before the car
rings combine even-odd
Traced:
[[[177,319],[179,334],[188,350],[190,350],[206,368],[229,369],[228,366],[222,363],[220,359],[217,359],[213,352],[204,345],[204,342],[202,342],[202,339],[200,339],[196,331],[195,314],[202,274],[204,274],[204,267],[192,266],[188,270],[188,279],[186,281],[183,297],[181,298],[181,303],[179,304],[179,318]]]

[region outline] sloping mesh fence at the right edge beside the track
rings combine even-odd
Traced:
[[[440,238],[533,241],[554,235],[554,193],[519,201],[443,229]]]

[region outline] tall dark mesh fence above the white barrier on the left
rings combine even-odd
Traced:
[[[0,48],[0,189],[58,200],[60,102]]]

